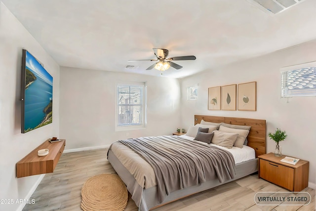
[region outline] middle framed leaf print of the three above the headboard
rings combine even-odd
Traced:
[[[222,110],[236,111],[237,84],[222,86]]]

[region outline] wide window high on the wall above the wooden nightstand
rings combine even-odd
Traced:
[[[281,96],[316,95],[316,62],[293,67],[281,73]]]

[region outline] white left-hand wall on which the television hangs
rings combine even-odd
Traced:
[[[53,123],[21,134],[22,48],[29,50],[53,77]],[[31,196],[40,175],[16,178],[15,165],[51,136],[59,136],[59,66],[0,1],[0,210],[20,210],[18,199]],[[35,187],[36,188],[36,187]]]

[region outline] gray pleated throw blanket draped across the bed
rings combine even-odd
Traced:
[[[236,174],[230,152],[180,136],[141,137],[119,142],[153,167],[160,203],[173,191],[215,178],[223,182]]]

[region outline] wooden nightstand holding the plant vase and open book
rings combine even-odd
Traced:
[[[299,192],[308,186],[309,162],[299,160],[291,165],[280,162],[284,157],[276,157],[274,153],[258,156],[258,176],[289,191]]]

